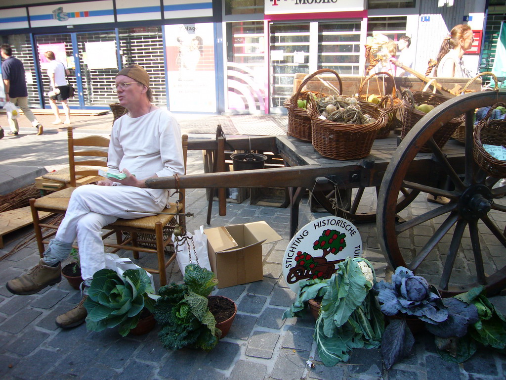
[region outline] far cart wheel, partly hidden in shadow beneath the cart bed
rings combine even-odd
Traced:
[[[372,189],[372,191],[371,191]],[[327,212],[355,223],[370,223],[376,220],[377,202],[368,193],[377,197],[379,187],[358,187],[353,191],[313,191],[315,201]],[[366,194],[366,200],[364,200]],[[419,191],[402,187],[399,191],[395,212],[404,210],[419,194]]]

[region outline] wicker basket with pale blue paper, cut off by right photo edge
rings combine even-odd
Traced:
[[[492,120],[492,111],[497,107],[506,107],[504,103],[496,103],[487,112],[487,115],[478,122],[474,133],[473,156],[480,168],[488,175],[496,178],[506,178],[506,161],[492,157],[483,147],[483,144],[506,145],[506,120]]]

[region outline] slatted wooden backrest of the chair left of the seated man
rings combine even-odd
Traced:
[[[72,127],[67,128],[68,141],[68,165],[70,172],[70,185],[76,186],[76,176],[98,175],[98,169],[78,169],[78,166],[107,167],[107,148],[109,139],[102,136],[86,136],[74,138]],[[77,146],[91,149],[75,149]],[[95,148],[95,149],[93,149]],[[102,149],[100,149],[102,148]],[[105,148],[105,149],[103,149]],[[76,160],[76,156],[87,157],[84,160]],[[105,159],[104,159],[105,158]]]

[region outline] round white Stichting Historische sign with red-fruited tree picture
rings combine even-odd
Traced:
[[[362,254],[362,238],[350,221],[327,216],[306,224],[293,236],[283,257],[283,277],[297,293],[299,281],[328,279],[347,257]]]

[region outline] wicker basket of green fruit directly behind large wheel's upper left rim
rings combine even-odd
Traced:
[[[441,103],[449,100],[448,97],[440,94],[433,94],[431,92],[426,91],[414,91],[411,93],[409,90],[404,90],[402,92],[402,115],[403,115],[403,124],[401,130],[401,139],[406,137],[408,132],[414,125],[423,118],[426,113],[417,110],[414,105],[419,103],[426,103],[433,106],[438,106]],[[459,117],[456,117],[450,120],[448,123],[443,125],[434,135],[434,141],[436,144],[442,148],[444,144],[449,140],[450,136],[455,132],[457,127],[462,124],[465,119],[465,115],[462,113]],[[431,148],[429,144],[425,144],[421,147],[420,152],[429,152]]]

